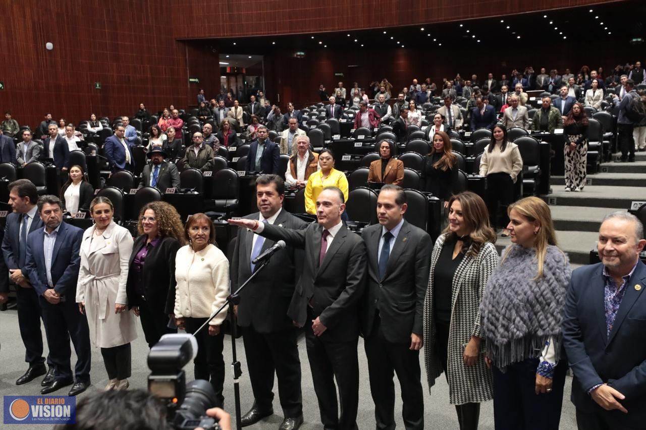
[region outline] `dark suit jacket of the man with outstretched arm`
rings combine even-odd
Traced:
[[[356,341],[359,336],[359,302],[366,284],[366,244],[358,234],[342,225],[318,267],[323,227],[310,224],[305,230],[282,229],[265,225],[262,236],[284,240],[305,249],[303,275],[294,291],[288,316],[305,325],[307,306],[313,302],[313,317],[327,330],[323,342]]]

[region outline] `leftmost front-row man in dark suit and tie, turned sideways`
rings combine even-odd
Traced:
[[[11,280],[16,283],[16,303],[18,326],[25,344],[25,361],[29,368],[16,381],[16,385],[26,384],[43,374],[43,385],[54,381],[54,365],[47,357],[49,370],[45,369],[43,358],[43,336],[41,334],[41,307],[38,294],[25,273],[27,235],[43,228],[43,221],[37,214],[36,186],[27,179],[18,179],[9,184],[9,204],[13,212],[6,217],[5,236],[2,252]]]

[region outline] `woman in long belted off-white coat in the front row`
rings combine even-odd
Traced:
[[[112,221],[114,207],[105,197],[90,203],[94,226],[81,242],[76,302],[87,313],[90,338],[101,348],[109,384],[106,390],[125,390],[131,370],[130,342],[137,338],[134,314],[128,311],[126,282],[132,235]]]

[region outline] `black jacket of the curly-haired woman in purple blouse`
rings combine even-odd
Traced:
[[[128,281],[125,285],[128,294],[128,309],[142,303],[141,296],[136,294],[136,272],[132,261],[141,248],[146,246],[147,234],[141,234],[132,245],[132,254],[128,261]],[[164,237],[146,254],[143,262],[141,282],[144,285],[146,302],[158,312],[172,314],[175,307],[175,255],[180,249],[180,243],[175,238]]]

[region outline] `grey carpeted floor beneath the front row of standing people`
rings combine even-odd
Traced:
[[[16,379],[23,374],[27,368],[25,359],[25,348],[20,339],[17,331],[18,320],[15,309],[10,309],[5,312],[0,312],[0,394],[1,395],[36,395],[40,391],[40,378],[30,382],[26,385],[15,385]],[[148,354],[148,347],[143,339],[143,332],[141,326],[138,327],[139,338],[132,343],[132,378],[130,379],[130,387],[143,388],[147,386],[146,378],[149,373],[146,364],[146,356]],[[45,333],[43,332],[43,339]],[[244,414],[251,404],[253,403],[253,394],[251,392],[251,385],[246,373],[246,364],[244,357],[244,346],[242,339],[236,343],[238,350],[238,358],[242,362],[243,375],[240,379],[240,393],[242,398],[242,413]],[[317,398],[314,393],[312,378],[309,372],[309,363],[307,362],[307,353],[305,349],[305,340],[301,338],[299,341],[300,360],[302,363],[302,389],[303,389],[303,408],[305,416],[305,424],[302,429],[320,429],[318,415]],[[73,349],[72,349],[73,351]],[[422,351],[423,354],[423,351]],[[426,380],[426,373],[424,371],[423,355],[420,355],[420,364],[422,366],[422,379]],[[225,363],[227,363],[226,372],[227,380],[225,382],[225,409],[232,415],[234,413],[234,396],[233,396],[233,380],[231,379],[231,338],[225,338],[224,349]],[[72,357],[72,365],[74,365],[76,358]],[[373,429],[375,427],[374,406],[370,396],[370,385],[368,382],[368,365],[366,363],[366,355],[363,351],[362,340],[359,339],[359,367],[360,367],[360,387],[359,387],[359,416],[357,422],[360,429]],[[193,378],[193,366],[187,365],[187,378]],[[396,378],[395,378],[396,381]],[[103,367],[101,360],[101,353],[98,349],[92,350],[92,387],[86,392],[94,392],[103,389],[107,384],[107,374]],[[396,386],[397,383],[395,382]],[[569,401],[570,396],[571,378],[567,378],[565,387],[565,398],[563,401],[563,415],[561,416],[562,430],[576,429],[576,422],[574,419],[574,407]],[[276,398],[274,402],[274,411],[276,415],[266,418],[262,422],[249,427],[252,429],[277,429],[278,425],[282,422],[282,411],[278,402],[277,386],[275,387]],[[399,393],[399,386],[397,386],[397,393]],[[81,394],[82,397],[86,393]],[[66,395],[67,389],[52,394]],[[401,420],[401,400],[397,394],[397,404],[395,405],[395,416],[397,418],[397,425],[403,428]],[[0,404],[0,407],[1,404]],[[4,413],[4,412],[3,412]],[[457,429],[457,418],[455,416],[455,409],[448,403],[448,386],[443,377],[437,380],[437,384],[433,387],[430,393],[428,387],[424,382],[424,419],[425,427],[427,429],[442,429],[450,430]],[[43,427],[43,426],[41,426]],[[25,429],[25,425],[2,425],[2,429]],[[483,404],[481,409],[480,427],[481,430],[494,430],[493,420],[493,403],[487,402]]]

